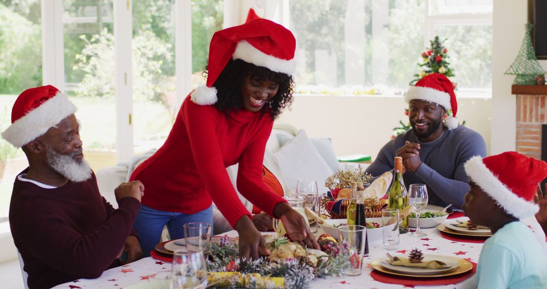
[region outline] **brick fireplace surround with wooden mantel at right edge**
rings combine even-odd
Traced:
[[[542,159],[542,125],[547,125],[547,85],[513,85],[511,93],[516,95],[516,151]],[[543,145],[547,147],[547,143]],[[545,150],[543,155],[544,158],[547,155]]]

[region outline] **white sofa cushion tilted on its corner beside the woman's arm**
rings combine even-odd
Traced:
[[[291,188],[296,187],[300,178],[314,178],[317,180],[319,193],[327,192],[328,189],[324,187],[325,180],[333,174],[333,170],[317,152],[305,130],[300,130],[275,156]]]

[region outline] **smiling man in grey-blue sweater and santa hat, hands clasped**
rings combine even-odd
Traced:
[[[486,157],[486,144],[476,131],[458,125],[456,95],[443,74],[432,73],[419,80],[405,95],[412,129],[382,147],[366,172],[378,176],[394,167],[394,157],[403,158],[406,187],[427,185],[429,204],[458,209],[469,191],[463,164],[475,155]],[[447,116],[452,110],[453,116]]]

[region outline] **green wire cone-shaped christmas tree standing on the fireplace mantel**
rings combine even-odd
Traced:
[[[516,56],[513,64],[505,71],[505,74],[516,75],[513,84],[533,85],[537,83],[536,76],[543,77],[544,72],[536,58],[536,52],[534,51],[532,38],[530,37],[532,27],[532,24],[526,24],[526,33],[524,34],[524,39],[522,39],[519,54]]]

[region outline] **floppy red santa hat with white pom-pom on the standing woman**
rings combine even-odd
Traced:
[[[213,85],[230,58],[274,72],[292,74],[296,68],[295,50],[293,33],[282,25],[259,18],[251,9],[245,24],[213,34],[209,46],[207,84],[196,88],[190,95],[191,100],[198,105],[217,102],[217,89]]]

